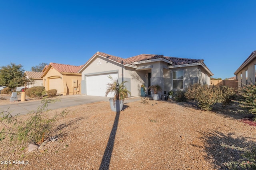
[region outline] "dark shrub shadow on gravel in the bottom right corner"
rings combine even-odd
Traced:
[[[219,131],[210,131],[208,133],[200,132],[205,142],[204,150],[207,153],[206,159],[214,164],[216,169],[228,169],[225,163],[238,161],[242,159],[242,154],[255,149],[255,139],[248,137],[232,137],[229,133],[224,135]],[[245,160],[247,162],[247,160]]]

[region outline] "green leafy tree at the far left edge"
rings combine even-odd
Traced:
[[[0,84],[8,86],[13,91],[16,87],[24,86],[26,77],[21,64],[11,63],[0,67]]]

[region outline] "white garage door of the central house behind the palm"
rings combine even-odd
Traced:
[[[115,80],[117,78],[117,73],[96,75],[96,76],[86,76],[86,89],[88,96],[105,96],[107,84],[112,82],[108,76],[112,76]],[[109,93],[107,97],[113,97],[114,93]]]

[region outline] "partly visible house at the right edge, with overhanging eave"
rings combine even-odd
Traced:
[[[238,87],[256,82],[256,50],[249,55],[234,74],[238,80]]]

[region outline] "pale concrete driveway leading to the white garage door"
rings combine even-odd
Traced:
[[[94,103],[106,101],[108,102],[110,98],[98,97],[98,96],[85,96],[85,95],[71,95],[71,96],[59,96],[60,102],[48,104],[48,109],[59,109],[70,106],[78,106],[82,104]],[[140,98],[129,98],[125,100],[124,103],[138,101]],[[0,106],[0,111],[10,112],[12,115],[24,115],[30,111],[36,111],[38,106],[41,106],[41,101],[35,102],[16,102],[15,104],[8,104]]]

